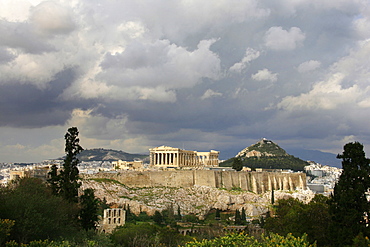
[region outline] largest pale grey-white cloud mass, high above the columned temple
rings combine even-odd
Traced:
[[[215,42],[202,40],[194,51],[168,40],[134,43],[122,53],[108,55],[96,78],[114,86],[111,97],[116,99],[173,102],[173,89],[190,88],[202,78],[220,78],[220,59],[210,50]],[[130,93],[122,97],[122,92]]]

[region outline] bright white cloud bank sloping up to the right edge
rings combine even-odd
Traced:
[[[280,109],[334,110],[339,106],[367,108],[370,97],[370,40],[360,42],[348,56],[334,63],[326,80],[299,96],[287,96],[277,105]]]

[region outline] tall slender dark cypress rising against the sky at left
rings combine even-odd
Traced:
[[[79,179],[79,171],[77,165],[79,160],[77,155],[83,151],[78,138],[78,129],[71,127],[64,135],[65,153],[63,169],[60,171],[60,194],[71,202],[78,202],[78,188],[81,186]]]

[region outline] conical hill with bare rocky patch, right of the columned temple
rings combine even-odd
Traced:
[[[265,138],[256,144],[241,150],[235,157],[240,157],[243,166],[264,169],[291,169],[303,171],[308,163],[293,155],[288,154],[276,143]],[[233,158],[222,162],[220,166],[231,166]]]

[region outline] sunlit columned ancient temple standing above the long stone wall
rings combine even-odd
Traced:
[[[218,166],[219,151],[197,152],[160,146],[149,149],[150,165],[155,167],[201,168]]]

